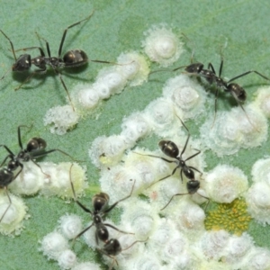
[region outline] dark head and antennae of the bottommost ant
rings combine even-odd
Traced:
[[[114,266],[115,263],[118,266],[116,256],[119,255],[121,253],[121,251],[129,249],[130,247],[132,247],[133,245],[135,245],[138,242],[146,242],[147,240],[148,240],[148,238],[146,240],[137,240],[137,241],[133,242],[129,247],[122,249],[120,242],[117,239],[112,238],[112,239],[108,240],[107,242],[105,242],[103,248],[97,248],[97,249],[101,253],[103,253],[103,255],[111,257],[113,259],[112,266]],[[109,270],[112,270],[112,266],[110,266]]]

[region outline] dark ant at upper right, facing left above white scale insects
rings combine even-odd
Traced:
[[[188,38],[185,35],[184,35],[184,37],[188,40]],[[256,70],[248,70],[247,72],[244,72],[238,76],[234,76],[233,78],[229,79],[229,81],[225,81],[224,79],[221,78],[221,73],[222,73],[222,68],[223,68],[223,57],[222,57],[221,53],[220,53],[221,61],[220,61],[219,75],[216,74],[216,71],[211,63],[208,64],[208,69],[203,69],[204,66],[200,62],[193,63],[193,54],[194,54],[194,49],[192,52],[190,65],[176,67],[170,71],[174,72],[178,69],[184,68],[185,74],[187,74],[189,76],[201,76],[207,81],[207,83],[209,85],[212,85],[212,84],[217,85],[216,90],[215,90],[215,104],[214,104],[215,114],[214,114],[213,123],[214,123],[215,118],[216,118],[219,88],[223,89],[224,92],[228,92],[229,94],[231,94],[233,96],[233,98],[237,101],[238,105],[241,107],[243,112],[245,112],[245,114],[247,116],[247,112],[245,111],[245,109],[242,105],[242,103],[245,103],[245,101],[247,99],[246,90],[243,87],[241,87],[240,85],[238,85],[236,83],[232,83],[232,82],[235,81],[236,79],[238,79],[239,77],[247,76],[250,73],[256,73],[258,76],[261,76],[268,81],[270,81],[270,79],[268,77],[262,75],[261,73],[257,72]],[[159,72],[159,71],[168,71],[168,70],[166,70],[166,69],[157,70],[157,71],[153,71],[152,73]],[[249,120],[248,116],[247,116],[247,120],[249,121],[249,123],[251,125],[253,125],[251,123],[251,121]],[[212,126],[213,126],[213,124],[212,124]]]

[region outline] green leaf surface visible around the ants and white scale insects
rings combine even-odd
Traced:
[[[45,46],[35,31],[49,41],[52,55],[57,55],[62,33],[68,25],[84,19],[94,9],[93,17],[82,25],[67,32],[63,51],[84,49],[91,59],[115,61],[121,52],[130,49],[141,50],[143,31],[155,23],[172,25],[177,33],[184,32],[195,44],[195,58],[209,62],[218,70],[220,65],[220,46],[223,49],[223,75],[233,77],[250,69],[270,75],[269,70],[269,2],[268,1],[175,1],[175,0],[122,0],[122,1],[1,1],[0,28],[13,41],[15,49],[32,46]],[[1,74],[14,63],[9,42],[0,35]],[[174,67],[190,62],[193,43],[185,46],[184,55]],[[32,50],[31,56],[38,56]],[[18,53],[19,55],[19,53]],[[89,63],[78,71],[63,72],[68,89],[80,82],[93,82],[103,64]],[[152,64],[152,69],[157,69]],[[32,68],[31,70],[34,70]],[[71,76],[69,76],[71,75]],[[43,125],[43,117],[49,108],[66,103],[66,93],[52,70],[46,75],[34,76],[22,89],[14,92],[27,77],[27,73],[8,73],[0,81],[1,129],[0,143],[18,150],[16,129],[18,125],[34,123],[30,131],[23,132],[24,144],[34,136],[46,139],[48,148],[60,148],[76,159],[86,160],[89,188],[81,200],[90,205],[91,196],[99,190],[99,171],[88,157],[91,142],[101,135],[112,135],[121,130],[121,121],[125,115],[140,111],[161,95],[162,86],[172,74],[164,73],[149,79],[148,83],[137,87],[126,87],[121,94],[113,95],[104,101],[95,115],[79,121],[75,130],[64,136],[53,135]],[[238,80],[247,90],[247,102],[257,87],[265,81],[256,75],[245,76]],[[213,95],[209,95],[209,98]],[[219,109],[229,109],[231,103],[221,94]],[[188,121],[193,136],[198,134],[198,126]],[[148,148],[157,148],[157,138],[151,137],[139,143]],[[241,168],[250,180],[250,168],[257,158],[268,155],[269,142],[261,148],[240,150],[233,157],[217,158],[210,151],[206,153],[207,170],[218,163],[227,163]],[[0,152],[4,158],[4,149]],[[2,159],[0,159],[2,160]],[[51,154],[43,158],[46,161],[68,161],[60,154]],[[9,238],[0,236],[0,269],[58,269],[57,263],[48,261],[38,251],[39,240],[58,225],[58,218],[65,213],[77,213],[85,222],[88,216],[75,203],[65,203],[58,198],[46,199],[42,196],[25,197],[31,218],[24,221],[22,234]],[[258,246],[270,247],[268,226],[263,228],[255,221],[249,232]],[[100,261],[100,255],[85,247],[83,242],[76,244],[76,253],[81,260]],[[104,266],[104,269],[106,267]]]

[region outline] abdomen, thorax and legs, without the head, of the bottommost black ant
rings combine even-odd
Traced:
[[[76,193],[75,193],[75,189],[74,189],[74,184],[71,181],[71,168],[73,165],[70,166],[70,170],[69,170],[69,179],[70,179],[70,184],[71,184],[71,188],[72,188],[72,193],[74,196],[74,201],[86,212],[90,213],[90,215],[93,218],[93,222],[90,226],[86,227],[85,229],[83,229],[78,235],[76,235],[76,237],[73,239],[73,242],[76,240],[76,238],[79,238],[81,235],[83,235],[85,233],[86,230],[91,229],[91,227],[95,226],[95,242],[96,244],[98,244],[98,240],[100,239],[101,241],[103,241],[104,243],[106,243],[109,239],[109,231],[106,227],[110,227],[112,229],[115,229],[121,233],[126,233],[126,234],[133,234],[130,232],[126,232],[123,231],[121,229],[117,229],[116,227],[112,226],[109,223],[103,223],[103,216],[105,214],[107,214],[109,211],[112,211],[112,209],[119,203],[122,202],[128,198],[130,198],[132,192],[133,192],[133,188],[134,188],[134,184],[136,183],[136,180],[134,181],[134,184],[132,185],[130,194],[124,198],[122,198],[121,200],[114,202],[109,208],[106,209],[108,202],[110,200],[110,197],[107,193],[98,193],[95,194],[94,197],[92,198],[92,203],[93,203],[93,207],[94,207],[94,211],[91,211],[90,209],[88,209],[87,207],[85,207],[84,204],[82,204],[81,202],[77,201],[76,199]]]

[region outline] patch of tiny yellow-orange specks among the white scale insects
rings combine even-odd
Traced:
[[[247,213],[247,203],[244,199],[236,199],[231,203],[220,203],[210,211],[204,221],[205,229],[225,229],[240,236],[248,229],[251,216]]]

